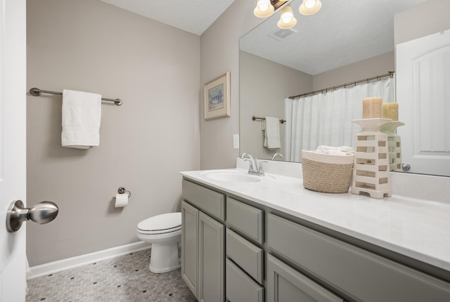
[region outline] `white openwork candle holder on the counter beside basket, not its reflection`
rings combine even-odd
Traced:
[[[392,195],[390,186],[387,134],[380,127],[392,119],[354,119],[362,127],[354,141],[353,194],[368,193],[372,198],[382,199]]]

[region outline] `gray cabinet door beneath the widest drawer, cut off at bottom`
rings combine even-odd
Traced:
[[[267,302],[342,302],[316,282],[267,254]]]

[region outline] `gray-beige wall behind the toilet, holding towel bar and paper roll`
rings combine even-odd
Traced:
[[[27,96],[27,203],[60,207],[28,224],[30,265],[137,242],[139,221],[179,211],[179,171],[200,169],[200,86],[197,35],[97,0],[27,1],[27,88],[124,102],[103,103],[100,146],[77,150],[60,145],[61,96]]]

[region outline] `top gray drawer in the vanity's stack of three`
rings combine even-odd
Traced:
[[[226,222],[244,235],[262,244],[262,220],[264,212],[236,199],[226,201]]]

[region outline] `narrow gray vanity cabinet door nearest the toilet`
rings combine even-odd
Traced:
[[[198,209],[181,202],[181,277],[198,297]]]

